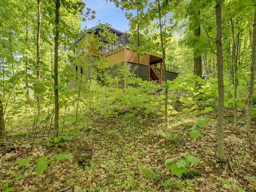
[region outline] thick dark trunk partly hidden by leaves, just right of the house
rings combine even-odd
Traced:
[[[196,16],[196,19],[200,21],[200,11],[198,11],[198,15]],[[198,28],[194,30],[194,36],[196,36],[199,39],[200,36],[200,24]],[[194,51],[194,75],[202,78],[202,58],[201,53],[198,51]]]

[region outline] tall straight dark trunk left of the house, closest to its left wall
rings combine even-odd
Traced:
[[[54,38],[54,100],[55,100],[54,137],[58,137],[58,133],[59,133],[59,93],[58,93],[59,10],[60,10],[60,0],[56,0],[55,38]]]

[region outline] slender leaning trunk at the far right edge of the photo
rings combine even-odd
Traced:
[[[251,141],[251,110],[252,110],[252,94],[254,86],[254,70],[255,70],[255,49],[256,49],[256,8],[254,11],[254,23],[252,30],[252,64],[251,64],[251,78],[250,87],[248,94],[248,104],[247,104],[247,119],[246,119],[246,136],[249,141]]]

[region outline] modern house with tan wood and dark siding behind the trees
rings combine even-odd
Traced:
[[[117,39],[114,42],[108,42],[105,37],[101,38],[101,41],[104,42],[104,46],[101,46],[99,48],[101,50],[101,55],[107,58],[109,61],[108,68],[105,68],[104,70],[109,71],[110,74],[115,76],[116,72],[114,71],[121,65],[127,66],[132,74],[137,74],[138,56],[136,54],[136,51],[131,50],[128,46],[130,43],[130,34],[121,32],[109,26],[107,26],[107,29],[110,32],[116,34]],[[88,30],[88,33],[94,32],[94,34],[99,34],[101,30],[101,25],[98,25]],[[84,36],[82,36],[82,38],[83,37]],[[82,38],[76,39],[72,46],[77,45]],[[77,67],[76,70],[78,70]],[[167,80],[174,80],[178,76],[179,72],[180,69],[178,67],[166,64]],[[162,56],[146,53],[144,53],[143,56],[140,56],[139,77],[142,78],[142,80],[157,81],[162,84],[162,81],[164,81]],[[125,77],[122,78],[119,84],[122,87],[128,86]]]

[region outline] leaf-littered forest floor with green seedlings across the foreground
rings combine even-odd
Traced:
[[[208,126],[201,129],[202,137],[192,139],[189,129],[195,124],[196,116],[171,115],[172,138],[161,134],[163,120],[156,114],[138,114],[134,122],[115,114],[96,114],[90,126],[82,126],[79,137],[59,147],[46,146],[46,137],[13,136],[0,148],[0,189],[1,191],[42,191],[55,192],[74,186],[75,192],[236,192],[256,191],[256,124],[252,124],[252,144],[244,138],[244,112],[240,111],[235,134],[232,110],[225,111],[224,146],[229,163],[217,160],[216,111],[209,114]],[[24,128],[24,134],[29,132]],[[30,130],[31,132],[31,130]],[[51,157],[58,153],[72,154],[81,143],[93,147],[90,166],[78,166],[72,160],[52,161],[46,171],[36,176],[36,158]],[[199,159],[194,168],[199,173],[179,180],[171,176],[166,167],[168,158],[181,159],[188,152]],[[21,158],[32,156],[28,167],[18,167]],[[139,166],[146,165],[148,171]],[[147,169],[146,169],[147,170]]]

